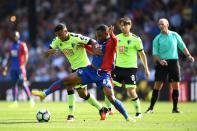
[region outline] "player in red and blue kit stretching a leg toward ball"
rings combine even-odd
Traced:
[[[113,27],[108,28],[106,25],[99,25],[96,29],[96,37],[98,44],[93,45],[93,48],[100,49],[102,54],[94,54],[91,65],[78,69],[63,80],[56,81],[53,86],[67,87],[77,84],[96,83],[97,87],[104,91],[110,102],[127,121],[135,121],[129,117],[122,103],[115,98],[113,92],[110,73],[113,69],[117,46],[117,39],[113,33]],[[54,91],[55,90],[53,90],[53,92]],[[45,93],[46,92],[43,92],[43,94]]]

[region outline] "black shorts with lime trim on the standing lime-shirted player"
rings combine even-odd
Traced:
[[[122,83],[124,83],[125,88],[136,88],[136,72],[137,68],[122,68],[116,66],[112,72],[114,85],[121,87]]]

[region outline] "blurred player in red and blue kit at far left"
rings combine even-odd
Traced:
[[[3,75],[7,75],[8,68],[11,73],[11,85],[12,95],[14,103],[10,105],[10,108],[18,107],[18,86],[22,86],[27,94],[27,99],[30,101],[31,107],[35,106],[34,100],[31,98],[31,92],[28,87],[27,75],[25,66],[28,61],[28,49],[26,43],[20,41],[20,34],[18,31],[14,31],[11,34],[11,40],[13,44],[9,52],[9,58],[7,64],[4,66]]]

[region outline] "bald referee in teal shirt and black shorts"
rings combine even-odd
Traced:
[[[172,113],[180,113],[177,107],[179,97],[179,81],[180,81],[180,64],[178,57],[178,48],[185,54],[187,59],[194,62],[194,58],[189,53],[181,36],[169,30],[169,22],[166,18],[161,18],[158,22],[161,32],[153,40],[153,56],[156,62],[155,67],[155,83],[152,93],[151,103],[146,113],[153,113],[154,105],[157,101],[159,91],[167,76],[171,87],[173,88]]]

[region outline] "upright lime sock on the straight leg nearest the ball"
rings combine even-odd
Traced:
[[[74,115],[75,111],[75,95],[74,90],[67,91],[67,99],[68,99],[68,108],[69,108],[69,115]]]

